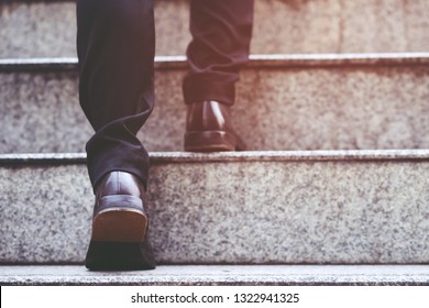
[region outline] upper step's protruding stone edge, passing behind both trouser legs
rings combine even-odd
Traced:
[[[429,65],[429,53],[255,54],[248,68]],[[76,70],[76,57],[0,58],[0,73]],[[186,56],[156,56],[156,69],[187,68]]]

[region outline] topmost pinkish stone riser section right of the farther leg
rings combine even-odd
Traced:
[[[386,53],[429,48],[429,1],[255,1],[253,53]]]

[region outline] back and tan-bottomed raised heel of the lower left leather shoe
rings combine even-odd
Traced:
[[[145,191],[139,178],[109,173],[96,188],[91,241],[139,243],[147,230]]]

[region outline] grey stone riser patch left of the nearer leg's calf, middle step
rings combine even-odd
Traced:
[[[0,74],[1,153],[82,152],[92,129],[76,73]]]

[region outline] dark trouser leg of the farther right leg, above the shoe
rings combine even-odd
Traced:
[[[234,84],[249,58],[253,7],[253,0],[190,0],[193,41],[183,84],[185,103],[233,105]]]

